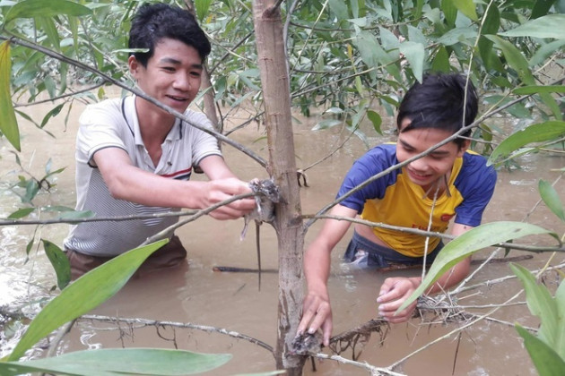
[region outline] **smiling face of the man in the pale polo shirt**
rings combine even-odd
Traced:
[[[196,48],[177,39],[162,38],[147,66],[130,56],[129,70],[145,94],[183,113],[200,90],[202,59]],[[149,103],[149,102],[145,102]]]

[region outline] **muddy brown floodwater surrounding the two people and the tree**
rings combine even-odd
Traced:
[[[51,107],[42,105],[24,110],[36,119],[40,119]],[[49,132],[45,132],[21,120],[22,166],[32,174],[40,176],[48,158],[52,158],[53,169],[66,167],[64,173],[55,178],[57,186],[50,194],[40,194],[34,201],[36,205],[74,206],[74,134],[77,116],[82,106],[74,104],[69,117],[68,127],[63,124],[63,116],[51,120]],[[231,116],[234,126],[246,117],[245,113]],[[347,137],[337,127],[325,132],[311,132],[310,129],[319,117],[303,118],[296,115],[294,124],[297,165],[309,167],[319,159],[335,150]],[[504,122],[498,120],[501,124]],[[365,130],[371,146],[394,138],[390,129],[393,120],[387,119],[383,128],[385,136],[377,136],[369,128]],[[511,124],[504,124],[509,127]],[[256,150],[267,158],[264,134],[256,124],[235,132],[232,137]],[[0,140],[2,158],[0,159],[0,181],[15,182],[22,171],[14,163],[12,150],[7,142]],[[228,164],[244,180],[253,177],[265,177],[265,171],[237,150],[223,147]],[[358,138],[352,137],[342,149],[331,158],[327,158],[307,171],[309,188],[300,190],[302,212],[314,214],[328,202],[333,201],[344,173],[355,158],[361,156],[366,146]],[[520,159],[520,169],[509,171],[500,169],[498,184],[491,204],[486,209],[483,222],[495,220],[527,221],[562,235],[565,226],[555,218],[543,204],[537,205],[539,194],[537,182],[540,178],[553,182],[561,174],[552,171],[565,166],[565,157],[559,155],[538,154]],[[196,177],[199,178],[199,177]],[[555,187],[565,201],[565,184],[559,181]],[[2,191],[0,217],[13,212],[19,200],[12,193]],[[529,214],[528,214],[529,213]],[[306,244],[317,234],[319,223],[310,227]],[[252,338],[257,338],[274,346],[277,331],[278,278],[275,273],[264,273],[261,290],[257,288],[257,276],[253,273],[214,272],[213,266],[232,266],[256,268],[255,229],[250,226],[248,235],[239,241],[243,220],[215,221],[203,218],[181,227],[177,234],[188,250],[187,265],[182,268],[162,273],[153,273],[131,280],[124,289],[102,304],[92,314],[117,316],[120,318],[143,318],[149,320],[170,320],[190,322],[215,328],[229,329]],[[68,226],[42,226],[37,230],[37,238],[45,238],[62,244]],[[48,289],[54,285],[55,278],[48,265],[47,258],[37,244],[30,252],[28,262],[25,246],[35,231],[32,226],[0,227],[0,306],[22,307],[24,312],[37,312],[41,299],[49,296]],[[334,334],[359,326],[377,314],[375,303],[378,287],[384,278],[395,275],[415,276],[418,270],[404,270],[388,273],[376,273],[362,270],[344,269],[340,258],[348,239],[337,245],[333,252],[332,274],[329,289],[334,310]],[[548,237],[528,239],[530,244],[552,244]],[[271,226],[261,226],[262,261],[264,269],[277,268],[276,235]],[[475,258],[486,258],[491,249],[478,252]],[[502,252],[499,256],[502,256]],[[510,256],[526,254],[512,251]],[[548,254],[535,255],[532,260],[520,262],[529,269],[542,267],[549,259]],[[563,261],[558,255],[551,264]],[[476,268],[476,267],[475,267]],[[511,275],[508,264],[490,264],[481,269],[467,285],[493,280]],[[559,279],[556,274],[546,278],[554,288]],[[507,302],[520,290],[514,279],[504,283],[482,286],[459,296],[459,302],[468,306],[469,312],[485,313],[485,308],[477,306],[495,306]],[[32,303],[29,303],[32,302]],[[524,302],[524,295],[519,295],[513,302]],[[489,308],[491,309],[491,308]],[[538,322],[527,311],[524,304],[511,305],[491,313],[491,318],[513,324],[536,327]],[[426,315],[431,320],[430,315]],[[494,320],[482,320],[464,329],[459,335],[452,334],[438,343],[427,346],[430,342],[445,336],[463,326],[459,323],[438,321],[422,322],[419,319],[405,324],[397,324],[387,329],[387,336],[381,342],[378,333],[374,333],[366,346],[355,349],[360,362],[367,362],[379,367],[404,359],[396,371],[409,375],[524,375],[535,374],[535,370],[526,349],[516,330],[508,324]],[[2,328],[0,338],[0,357],[8,354],[17,339],[22,335],[24,326],[13,323]],[[57,353],[83,348],[100,347],[165,347],[204,353],[228,353],[233,355],[229,363],[209,372],[214,375],[237,373],[266,372],[274,370],[273,356],[260,346],[243,339],[234,339],[217,333],[207,333],[192,329],[170,329],[81,321],[61,342]],[[425,347],[425,348],[424,348]],[[326,350],[326,353],[330,352]],[[40,350],[27,356],[41,355]],[[352,351],[342,354],[351,358]],[[312,371],[308,362],[304,373],[308,375],[364,375],[368,372],[352,365],[335,361],[316,361],[317,372]]]

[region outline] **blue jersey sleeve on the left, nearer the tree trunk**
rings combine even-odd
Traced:
[[[336,198],[347,195],[340,202],[349,209],[355,209],[359,214],[363,211],[365,201],[382,199],[390,184],[391,178],[395,178],[397,171],[381,176],[377,180],[366,184],[361,189],[351,192],[358,185],[367,181],[370,177],[387,169],[387,167],[395,165],[395,146],[386,145],[378,146],[369,150],[361,158],[357,159],[352,168],[343,179],[342,186],[337,193]]]

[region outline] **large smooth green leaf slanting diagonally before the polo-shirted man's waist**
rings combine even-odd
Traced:
[[[7,360],[20,359],[39,339],[45,338],[65,322],[91,311],[110,296],[115,295],[122,286],[126,285],[127,280],[134,275],[142,262],[167,242],[168,240],[161,240],[120,254],[67,286],[31,321],[30,327]]]

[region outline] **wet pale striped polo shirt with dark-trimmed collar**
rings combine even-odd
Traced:
[[[202,113],[187,109],[190,123],[212,128]],[[76,136],[77,210],[91,210],[97,217],[139,216],[178,209],[148,207],[116,200],[104,183],[92,157],[104,148],[125,150],[136,167],[170,179],[188,180],[193,166],[211,155],[222,155],[216,139],[177,119],[165,141],[157,166],[143,145],[135,112],[135,96],[91,105],[79,120]],[[127,221],[87,222],[72,226],[65,247],[92,256],[116,256],[142,244],[148,237],[175,224],[178,217]]]

